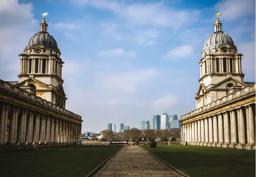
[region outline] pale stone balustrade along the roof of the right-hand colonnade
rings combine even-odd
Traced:
[[[0,84],[1,85],[1,84]],[[206,110],[209,110],[209,109],[212,109],[214,107],[217,107],[227,101],[231,101],[231,100],[235,100],[235,99],[238,99],[239,97],[241,96],[244,96],[244,95],[247,95],[249,93],[252,93],[252,92],[255,92],[256,91],[256,83],[252,84],[252,85],[249,85],[248,87],[245,87],[244,89],[242,90],[239,90],[239,91],[232,91],[230,93],[233,93],[231,95],[228,95],[226,97],[222,97],[221,99],[219,100],[216,100],[216,101],[213,101],[211,102],[210,104],[206,105],[206,106],[203,106],[203,107],[200,107],[192,112],[189,112],[185,115],[182,115],[181,116],[181,119],[185,119],[185,118],[188,118],[192,115],[195,115],[195,114],[198,114],[199,112],[203,112],[203,111],[206,111]]]

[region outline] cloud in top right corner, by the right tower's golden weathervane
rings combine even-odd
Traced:
[[[254,14],[255,17],[255,0],[220,1],[214,8],[222,13],[221,19],[235,20],[248,14]]]

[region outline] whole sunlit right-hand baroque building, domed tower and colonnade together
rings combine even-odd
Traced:
[[[182,143],[255,150],[255,82],[244,82],[243,55],[216,15],[198,62],[196,110],[181,116]]]

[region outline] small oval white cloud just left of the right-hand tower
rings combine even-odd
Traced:
[[[176,59],[183,58],[191,55],[193,52],[193,48],[191,45],[182,45],[170,50],[166,55],[163,56],[165,59]]]

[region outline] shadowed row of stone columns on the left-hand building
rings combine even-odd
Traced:
[[[80,141],[81,124],[0,102],[0,145]]]

